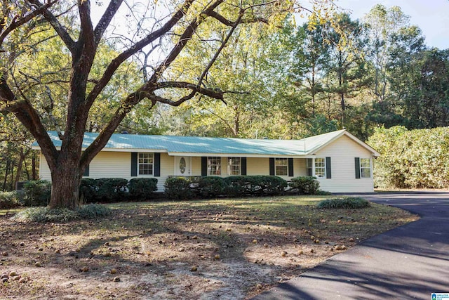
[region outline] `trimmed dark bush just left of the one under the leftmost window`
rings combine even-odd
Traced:
[[[128,180],[124,178],[99,178],[96,179],[98,185],[97,197],[102,202],[123,201],[128,191]]]

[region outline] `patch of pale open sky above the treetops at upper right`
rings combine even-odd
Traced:
[[[449,0],[335,0],[335,4],[352,11],[351,19],[363,18],[376,4],[399,6],[417,25],[429,47],[449,48]]]

